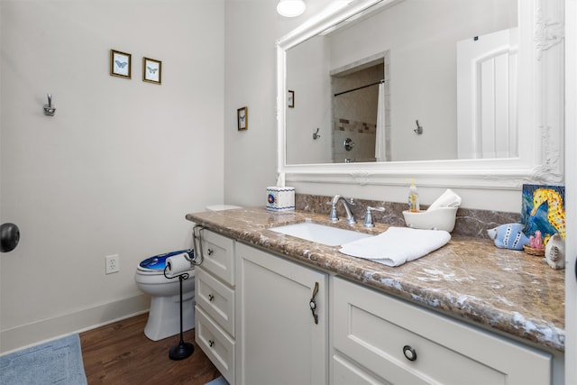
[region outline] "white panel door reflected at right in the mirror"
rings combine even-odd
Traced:
[[[459,159],[517,156],[517,28],[457,42]]]

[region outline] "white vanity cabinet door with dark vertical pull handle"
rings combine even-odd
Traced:
[[[325,384],[326,274],[241,243],[236,257],[237,383]]]

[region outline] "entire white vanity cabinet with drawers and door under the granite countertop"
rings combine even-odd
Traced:
[[[552,353],[208,230],[202,248],[196,341],[231,385],[563,381]]]

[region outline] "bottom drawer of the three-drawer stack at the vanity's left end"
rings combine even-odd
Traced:
[[[229,384],[234,385],[234,340],[201,307],[196,309],[195,339]]]

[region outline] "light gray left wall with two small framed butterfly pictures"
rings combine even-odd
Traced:
[[[224,0],[2,0],[0,348],[142,311],[138,262],[223,201]],[[132,53],[132,79],[109,50]],[[142,57],[162,85],[142,82]],[[56,115],[44,116],[46,94]],[[120,272],[105,275],[105,255]]]

